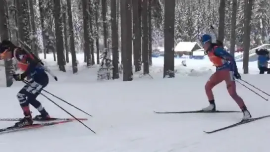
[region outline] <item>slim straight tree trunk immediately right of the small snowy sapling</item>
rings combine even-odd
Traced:
[[[116,0],[110,0],[110,17],[111,17],[111,48],[112,48],[112,79],[119,78],[118,71],[118,32],[116,18]]]

